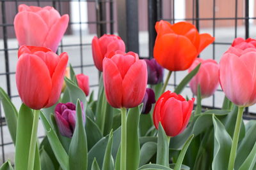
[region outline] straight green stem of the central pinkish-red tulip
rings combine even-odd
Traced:
[[[122,129],[121,129],[121,165],[120,169],[126,169],[126,108],[121,108]]]

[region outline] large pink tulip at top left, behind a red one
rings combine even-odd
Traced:
[[[14,18],[14,29],[19,45],[45,46],[56,52],[68,26],[68,15],[51,6],[19,5],[19,13]]]

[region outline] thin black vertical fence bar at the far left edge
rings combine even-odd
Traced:
[[[6,12],[5,12],[5,1],[2,0],[1,3],[2,8],[2,22],[6,24]],[[3,26],[3,40],[4,40],[4,60],[5,60],[5,72],[9,73],[9,53],[8,53],[8,32],[6,27]],[[7,85],[7,94],[11,96],[11,83],[10,83],[10,75],[6,74],[6,85]]]

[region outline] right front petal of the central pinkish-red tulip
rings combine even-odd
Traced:
[[[145,96],[147,88],[147,64],[144,60],[137,60],[125,74],[122,87],[122,106],[134,108]]]

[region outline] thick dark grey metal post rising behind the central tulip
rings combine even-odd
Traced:
[[[138,1],[118,0],[118,34],[124,40],[127,51],[139,53]]]

